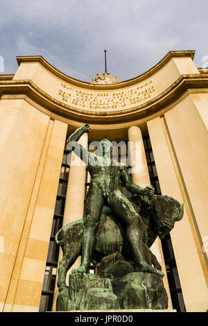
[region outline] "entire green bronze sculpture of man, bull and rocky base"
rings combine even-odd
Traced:
[[[112,145],[107,139],[100,142],[101,156],[87,152],[77,141],[89,131],[89,125],[85,125],[68,139],[73,141],[76,155],[87,164],[92,180],[87,192],[85,218],[65,225],[55,237],[63,251],[58,268],[60,295],[57,309],[89,309],[90,304],[91,309],[117,309],[118,304],[123,309],[164,309],[167,307],[167,296],[162,283],[164,274],[149,248],[157,236],[162,239],[172,230],[175,221],[180,221],[183,205],[171,197],[156,196],[152,186],[141,188],[135,185],[126,166],[112,160]],[[137,196],[126,198],[121,194],[120,178],[128,191]],[[103,205],[110,207],[105,214],[101,214]],[[82,263],[70,275],[68,292],[67,271],[80,253]],[[85,276],[92,261],[101,263],[99,275],[95,276],[96,290],[92,282],[89,282],[89,277]],[[83,288],[85,300],[84,297],[80,298],[80,291],[79,295],[74,294],[74,289],[83,284],[83,277],[86,279],[85,289]],[[98,289],[103,289],[103,284],[108,284],[106,280],[109,279],[112,288],[108,286],[105,289],[104,286],[105,291],[99,292]],[[153,299],[149,299],[154,286],[157,295],[154,294]],[[107,297],[102,294],[106,291]],[[131,291],[134,298],[129,294]],[[143,291],[148,299],[144,300]],[[86,293],[91,294],[88,297]],[[93,298],[92,293],[96,293],[96,301],[89,300]],[[100,301],[105,301],[105,304],[98,304],[98,293]],[[105,300],[102,299],[103,295]],[[83,303],[80,306],[80,300],[87,302],[86,305]]]

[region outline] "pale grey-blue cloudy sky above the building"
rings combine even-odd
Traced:
[[[0,0],[0,56],[15,74],[16,55],[42,55],[53,67],[91,82],[105,72],[128,80],[168,51],[208,55],[207,0]],[[208,58],[208,57],[207,57]]]

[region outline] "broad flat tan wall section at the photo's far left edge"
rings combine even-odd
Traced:
[[[14,297],[12,273],[49,124],[50,118],[24,99],[1,96],[0,311],[10,309]]]

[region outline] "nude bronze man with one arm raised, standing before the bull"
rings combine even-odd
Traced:
[[[88,124],[73,132],[67,142],[78,141],[85,132],[90,132]],[[121,194],[119,178],[123,180],[125,187],[132,194],[147,195],[151,198],[155,193],[155,189],[152,186],[141,188],[135,185],[128,174],[126,166],[112,160],[111,142],[103,139],[100,144],[102,156],[87,152],[78,143],[74,148],[74,152],[87,164],[92,180],[85,203],[86,225],[83,235],[82,264],[72,273],[87,273],[89,271],[99,218],[103,205],[106,204],[125,225],[126,236],[138,271],[157,273],[164,276],[162,271],[148,264],[145,259],[144,243],[147,234],[144,232],[144,222],[130,200]]]

